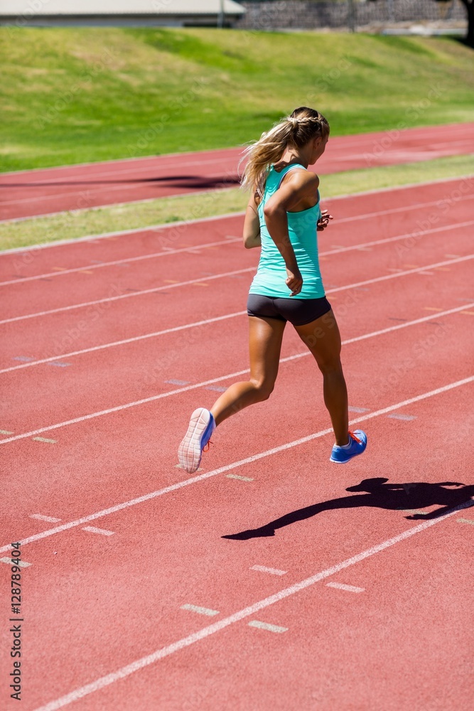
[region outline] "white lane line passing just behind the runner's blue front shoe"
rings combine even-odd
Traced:
[[[383,407],[381,410],[375,410],[375,412],[369,412],[367,415],[361,415],[355,419],[351,419],[349,424],[357,424],[358,422],[365,422],[367,419],[372,419],[373,417],[379,417],[379,415],[386,415],[387,412],[392,412],[392,410],[399,410],[401,407],[406,405],[411,405],[413,402],[420,402],[421,400],[426,400],[428,397],[433,397],[434,395],[440,395],[441,392],[448,392],[448,390],[453,390],[455,387],[462,387],[468,383],[474,382],[474,375],[469,378],[463,378],[463,380],[456,380],[456,383],[449,383],[448,385],[442,385],[437,387],[436,390],[429,390],[429,392],[423,392],[421,395],[415,395],[410,397],[408,400],[403,402],[396,402],[395,405],[389,405],[388,407]],[[117,513],[125,508],[130,508],[131,506],[136,506],[136,504],[144,503],[144,501],[150,501],[157,496],[163,496],[163,494],[170,493],[171,491],[176,491],[176,489],[183,488],[183,486],[190,486],[190,484],[196,483],[197,481],[203,481],[204,479],[210,479],[211,476],[217,476],[217,474],[222,474],[225,471],[230,471],[231,469],[237,469],[239,466],[244,466],[244,464],[252,464],[254,461],[259,459],[264,459],[264,457],[271,456],[271,454],[278,454],[280,451],[285,451],[286,449],[292,449],[293,447],[298,447],[299,444],[305,444],[306,442],[311,442],[313,439],[318,439],[319,437],[324,437],[325,434],[330,434],[333,432],[332,427],[328,429],[321,429],[320,432],[314,434],[308,434],[307,437],[301,437],[301,439],[295,439],[293,442],[288,442],[287,444],[280,444],[279,447],[273,447],[272,449],[266,449],[266,451],[259,452],[259,454],[252,454],[252,456],[247,456],[246,459],[239,459],[239,461],[234,461],[231,464],[225,464],[225,466],[220,466],[218,469],[212,469],[212,471],[207,471],[199,476],[192,476],[190,479],[185,479],[183,481],[178,481],[165,488],[158,489],[158,491],[152,491],[151,493],[146,493],[143,496],[130,499],[129,501],[124,501],[123,503],[117,503],[115,506],[110,506],[109,508],[104,508],[102,511],[97,513],[91,513],[88,516],[83,516],[75,521],[70,521],[69,523],[63,523],[63,525],[56,526],[55,528],[50,528],[42,533],[36,533],[35,535],[28,536],[21,540],[21,545],[27,545],[36,540],[41,540],[42,538],[48,538],[50,535],[55,533],[60,533],[64,530],[69,530],[70,528],[75,528],[82,525],[83,523],[88,523],[89,521],[95,520],[97,518],[103,518],[112,513]],[[0,553],[4,551],[11,550],[11,544],[4,545],[0,548]]]

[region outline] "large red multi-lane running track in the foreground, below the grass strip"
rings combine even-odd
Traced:
[[[430,204],[455,190],[448,210]],[[19,538],[30,564],[26,710],[469,707],[473,197],[447,181],[328,203],[323,278],[369,437],[345,468],[328,461],[321,377],[287,326],[270,399],[223,422],[194,475],[176,469],[190,412],[219,395],[208,388],[248,377],[258,250],[198,250],[237,238],[242,218],[190,224],[175,252],[129,267],[104,264],[150,255],[163,230],[36,250],[25,280],[0,287],[14,294],[4,321],[20,317],[0,326],[15,368],[0,374],[0,547]],[[103,265],[82,273],[92,256]],[[81,271],[42,277],[55,266]],[[215,278],[181,284],[200,267]],[[176,281],[87,315],[77,304],[109,298],[117,269],[124,284]],[[67,337],[54,355],[68,365],[15,360]],[[136,340],[108,345],[120,338]],[[2,563],[2,589],[10,574]]]

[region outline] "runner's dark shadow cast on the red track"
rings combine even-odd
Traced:
[[[358,496],[342,496],[333,498],[330,501],[322,501],[314,503],[312,506],[306,506],[291,513],[286,513],[281,518],[277,518],[270,523],[266,523],[260,528],[253,528],[242,531],[241,533],[233,533],[232,535],[223,535],[221,538],[231,538],[232,540],[247,540],[249,538],[260,538],[263,536],[275,535],[277,528],[302,521],[305,518],[311,518],[323,511],[330,511],[340,508],[359,508],[360,506],[370,506],[372,508],[384,508],[387,510],[414,510],[424,508],[426,506],[438,505],[437,508],[429,513],[416,513],[411,516],[405,516],[409,520],[428,520],[437,518],[448,513],[455,506],[466,503],[474,496],[474,484],[463,484],[457,481],[441,481],[439,483],[427,483],[419,481],[416,483],[389,483],[388,479],[377,477],[375,479],[363,479],[356,486],[349,486],[345,491],[363,491],[365,493]],[[446,488],[447,486],[456,486],[462,488]],[[474,503],[474,502],[473,502]]]

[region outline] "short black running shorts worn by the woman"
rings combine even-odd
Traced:
[[[263,296],[249,294],[247,299],[247,314],[249,316],[265,316],[266,319],[289,321],[293,326],[304,326],[316,321],[330,311],[331,305],[323,296],[321,299],[289,299],[279,296]]]

